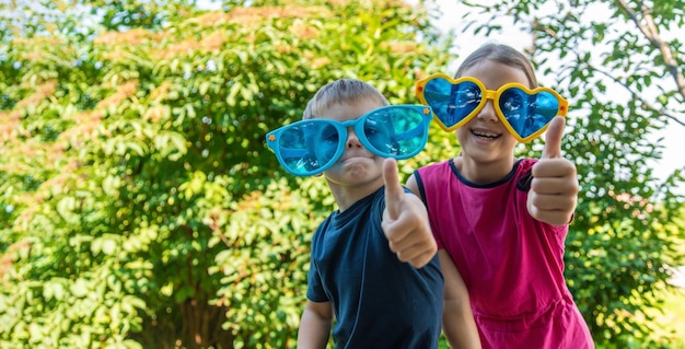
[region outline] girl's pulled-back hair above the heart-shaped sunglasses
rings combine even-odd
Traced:
[[[454,79],[461,78],[464,70],[481,62],[485,59],[521,69],[529,78],[531,88],[537,88],[537,78],[535,78],[535,71],[533,70],[531,61],[515,48],[497,43],[487,43],[473,51],[473,54],[468,55],[468,57],[466,57],[464,62],[462,62],[460,68],[456,70]]]

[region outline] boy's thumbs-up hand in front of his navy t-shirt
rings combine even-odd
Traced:
[[[390,248],[399,260],[421,268],[438,251],[426,207],[414,194],[405,193],[399,184],[397,162],[394,159],[385,159],[383,162],[383,181],[385,211],[382,226]]]

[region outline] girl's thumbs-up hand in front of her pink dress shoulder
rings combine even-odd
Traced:
[[[527,208],[533,218],[552,224],[568,224],[578,201],[576,165],[561,158],[561,138],[566,120],[555,117],[547,128],[545,148],[533,165],[533,181]]]

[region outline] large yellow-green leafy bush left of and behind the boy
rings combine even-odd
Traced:
[[[341,77],[416,103],[449,59],[399,1],[153,4],[1,9],[2,348],[291,347],[333,201],[264,135]]]

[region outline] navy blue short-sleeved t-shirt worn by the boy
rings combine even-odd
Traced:
[[[420,269],[397,259],[381,228],[384,208],[381,188],[326,218],[312,239],[306,296],[333,302],[336,348],[434,349],[444,286],[438,256]]]

